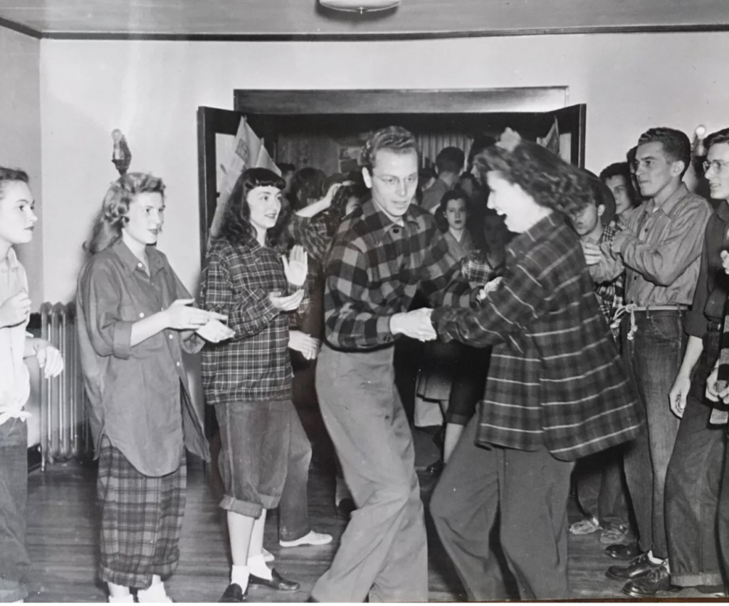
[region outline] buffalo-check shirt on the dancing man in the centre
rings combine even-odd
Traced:
[[[469,306],[475,292],[452,280],[448,244],[415,204],[397,225],[368,200],[340,224],[327,255],[326,339],[335,349],[389,345],[390,318],[408,311],[418,288],[433,303]]]

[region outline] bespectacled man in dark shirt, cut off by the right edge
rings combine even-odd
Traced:
[[[729,296],[721,259],[729,245],[729,128],[710,134],[704,145],[704,176],[720,203],[706,225],[701,271],[685,323],[686,354],[669,393],[681,425],[666,475],[666,529],[671,583],[690,588],[682,597],[724,595],[717,515],[725,439],[723,428],[709,422],[713,403],[704,393],[719,357]]]

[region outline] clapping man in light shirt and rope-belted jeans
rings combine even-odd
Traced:
[[[673,537],[666,532],[664,496],[679,418],[671,411],[668,392],[685,351],[683,325],[712,213],[709,203],[682,183],[690,161],[691,144],[685,133],[673,128],[643,133],[634,166],[645,201],[610,244],[583,243],[596,283],[625,270],[623,356],[646,413],[647,432],[625,451],[623,462],[640,542],[610,545],[606,550],[617,559],[633,558],[606,573],[608,578],[624,580],[623,593],[633,597],[671,588],[668,543]]]

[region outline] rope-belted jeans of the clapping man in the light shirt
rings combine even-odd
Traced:
[[[623,356],[646,416],[646,430],[625,449],[625,480],[633,502],[642,551],[668,557],[664,494],[668,461],[679,430],[668,392],[685,349],[683,320],[676,310],[636,311],[636,333],[627,338],[631,314],[623,316]]]

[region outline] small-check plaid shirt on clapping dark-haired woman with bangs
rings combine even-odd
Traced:
[[[235,336],[203,349],[203,389],[208,404],[287,400],[292,368],[287,351],[289,314],[268,295],[294,292],[278,251],[255,238],[214,241],[203,268],[202,305],[228,317]]]

